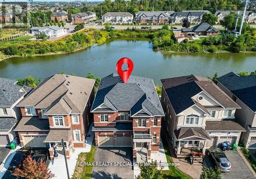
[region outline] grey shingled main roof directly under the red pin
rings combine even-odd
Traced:
[[[131,110],[131,116],[141,109],[152,116],[164,115],[154,82],[150,78],[131,75],[126,83],[114,73],[102,78],[91,111],[102,103],[114,111]]]

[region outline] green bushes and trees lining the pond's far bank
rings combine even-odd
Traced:
[[[90,32],[90,33],[89,33]],[[126,29],[95,30],[84,29],[71,36],[56,41],[30,41],[28,39],[11,39],[0,41],[0,61],[12,57],[30,57],[73,53],[94,45],[102,44],[109,38],[144,37],[152,40],[153,49],[170,53],[238,53],[256,52],[255,30],[248,27],[239,37],[232,34],[221,34],[217,37],[205,37],[200,40],[181,43],[168,26],[162,29]]]

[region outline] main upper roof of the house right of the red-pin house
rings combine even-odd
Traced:
[[[176,114],[193,105],[198,106],[206,113],[206,106],[192,99],[193,96],[200,92],[204,92],[209,97],[215,99],[225,108],[240,108],[216,84],[203,77],[189,75],[161,79],[161,82]]]

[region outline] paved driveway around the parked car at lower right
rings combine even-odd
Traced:
[[[222,179],[234,179],[234,178],[254,178],[253,173],[247,167],[238,151],[226,150],[225,154],[231,163],[232,170],[230,172],[222,173]],[[205,155],[205,162],[208,167],[214,168],[214,164],[210,161],[209,156]]]

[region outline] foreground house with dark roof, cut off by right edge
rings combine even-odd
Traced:
[[[218,86],[241,106],[235,114],[238,123],[246,129],[241,142],[246,148],[256,149],[256,75],[239,76],[230,72],[217,80]]]

